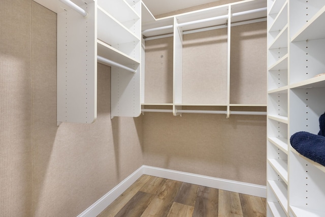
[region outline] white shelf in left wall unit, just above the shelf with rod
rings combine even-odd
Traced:
[[[141,41],[134,33],[125,28],[122,23],[98,7],[98,39],[109,45],[126,44]],[[111,34],[114,31],[114,34]]]

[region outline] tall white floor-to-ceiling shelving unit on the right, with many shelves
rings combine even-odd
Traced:
[[[325,216],[325,167],[289,143],[325,111],[325,2],[268,1],[268,216]]]

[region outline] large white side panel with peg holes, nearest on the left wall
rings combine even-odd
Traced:
[[[57,121],[91,123],[96,119],[97,55],[95,3],[57,14]]]

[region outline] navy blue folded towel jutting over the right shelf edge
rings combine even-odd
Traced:
[[[325,166],[325,136],[298,132],[291,136],[290,143],[306,158]]]

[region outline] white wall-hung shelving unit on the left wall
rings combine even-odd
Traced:
[[[95,121],[97,62],[111,66],[111,116],[139,116],[141,0],[35,1],[57,13],[58,123]]]

